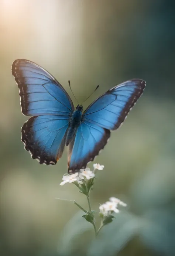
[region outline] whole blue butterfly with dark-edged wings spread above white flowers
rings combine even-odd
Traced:
[[[21,128],[21,140],[40,164],[56,164],[69,145],[68,172],[75,173],[93,161],[104,148],[110,130],[124,122],[142,95],[145,81],[132,79],[114,86],[82,113],[74,108],[61,84],[41,66],[26,59],[12,64],[21,98],[21,111],[32,116]]]

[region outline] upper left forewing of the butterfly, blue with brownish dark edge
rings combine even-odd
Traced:
[[[72,100],[61,84],[34,62],[17,59],[12,64],[12,74],[25,116],[68,115],[74,110]]]

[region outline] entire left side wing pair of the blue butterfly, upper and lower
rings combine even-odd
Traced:
[[[32,116],[21,128],[21,140],[40,164],[56,164],[62,156],[69,118],[74,106],[61,84],[34,62],[17,59],[12,64],[21,111]]]

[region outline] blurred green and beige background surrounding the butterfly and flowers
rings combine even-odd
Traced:
[[[94,240],[73,184],[24,150],[14,59],[43,66],[79,102],[127,79],[147,86],[95,162],[93,209],[109,197],[128,204]],[[163,0],[0,0],[0,255],[175,255],[175,2]],[[92,163],[88,165],[92,168]],[[78,212],[77,212],[78,211]],[[97,217],[98,218],[98,217]],[[98,224],[98,222],[97,222]]]

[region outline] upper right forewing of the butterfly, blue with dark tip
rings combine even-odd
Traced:
[[[145,84],[141,79],[133,79],[113,87],[85,110],[83,119],[116,130],[142,95]]]

